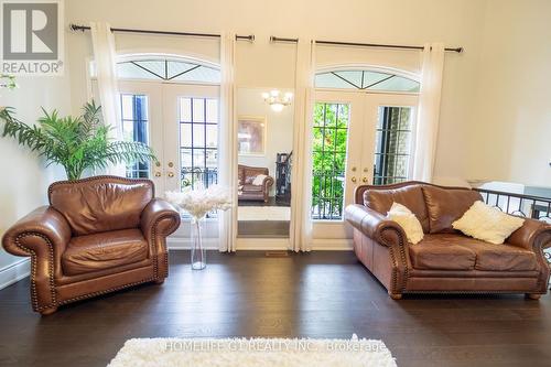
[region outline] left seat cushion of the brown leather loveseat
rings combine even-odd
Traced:
[[[466,240],[452,234],[425,235],[419,244],[409,246],[411,265],[415,269],[473,270],[476,253],[462,246]]]

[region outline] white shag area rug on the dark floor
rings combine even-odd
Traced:
[[[380,341],[136,338],[108,367],[396,367]]]

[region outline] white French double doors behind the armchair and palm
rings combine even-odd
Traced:
[[[160,196],[217,181],[218,86],[120,82],[119,91],[125,139],[159,160],[127,166],[127,176],[151,179]]]

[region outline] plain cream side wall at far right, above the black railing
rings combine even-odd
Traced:
[[[468,176],[551,186],[551,1],[485,14]]]

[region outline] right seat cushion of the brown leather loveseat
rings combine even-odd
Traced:
[[[488,271],[530,271],[537,269],[536,255],[512,245],[494,245],[479,240],[471,242],[476,253],[476,270]]]

